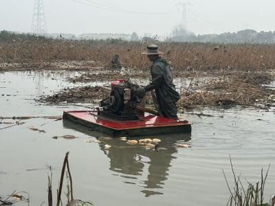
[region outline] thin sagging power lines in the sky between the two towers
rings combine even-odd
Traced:
[[[88,5],[89,7],[93,7],[93,8],[109,10],[112,12],[120,12],[120,13],[125,13],[125,14],[164,15],[164,14],[170,14],[170,13],[175,12],[175,11],[171,11],[171,12],[138,12],[138,11],[133,11],[133,10],[125,10],[122,8],[116,8],[116,7],[109,6],[109,5],[104,5],[102,3],[98,3],[95,1],[91,1],[91,0],[72,0],[72,1],[74,1],[76,3],[83,4],[83,5]]]

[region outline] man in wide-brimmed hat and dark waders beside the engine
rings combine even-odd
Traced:
[[[155,89],[159,114],[166,118],[177,119],[176,102],[180,96],[173,84],[171,69],[166,60],[159,56],[160,54],[164,53],[159,52],[157,45],[148,45],[147,51],[142,52],[142,55],[147,55],[148,59],[153,62],[151,66],[152,82],[140,89],[138,95],[143,98],[147,91]]]

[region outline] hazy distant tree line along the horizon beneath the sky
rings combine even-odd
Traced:
[[[239,32],[225,32],[222,34],[203,34],[196,35],[186,31],[183,27],[175,27],[169,37],[160,38],[159,36],[151,36],[144,34],[138,36],[137,33],[132,34],[45,34],[38,36],[36,34],[22,34],[16,32],[1,31],[0,43],[10,41],[43,41],[49,38],[52,39],[69,39],[74,41],[91,41],[91,40],[110,40],[117,39],[121,41],[142,41],[153,43],[155,41],[170,41],[170,42],[197,42],[197,43],[275,43],[275,32],[256,32],[255,30],[241,30]]]

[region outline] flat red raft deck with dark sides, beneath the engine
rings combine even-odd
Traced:
[[[191,133],[191,124],[189,122],[155,115],[140,115],[140,120],[122,122],[100,117],[97,111],[64,111],[63,119],[82,124],[114,137]]]

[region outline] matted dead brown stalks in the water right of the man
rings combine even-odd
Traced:
[[[270,84],[273,78],[270,73],[221,73],[204,80],[195,90],[185,89],[179,105],[185,108],[213,105],[268,108],[275,104],[275,91],[263,84]]]

